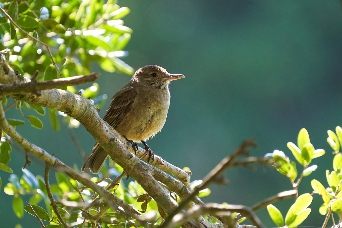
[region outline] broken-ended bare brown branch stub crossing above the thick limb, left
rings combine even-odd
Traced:
[[[79,85],[86,82],[95,81],[99,73],[91,73],[89,75],[80,75],[68,78],[58,78],[43,82],[32,80],[29,82],[0,84],[0,96],[4,94],[15,93],[35,93],[41,90],[49,90],[54,88],[61,88],[68,85]]]

